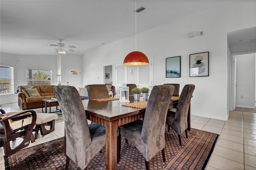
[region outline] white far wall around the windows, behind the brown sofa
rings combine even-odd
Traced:
[[[19,62],[17,62],[19,60]],[[58,62],[60,59],[58,59]],[[64,79],[66,78],[66,67],[82,67],[82,56],[67,54],[61,59],[61,69]],[[52,70],[52,85],[58,85],[57,71],[57,56],[56,55],[13,55],[0,53],[1,65],[8,65],[14,67],[14,91],[19,85],[26,85],[26,68],[36,69],[51,69]],[[62,77],[62,80],[63,80]],[[18,102],[17,94],[0,95],[0,103]]]

